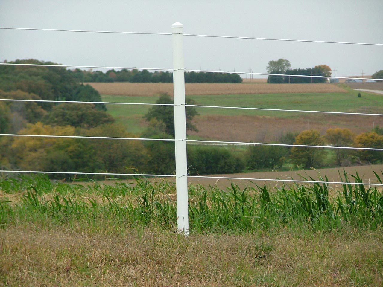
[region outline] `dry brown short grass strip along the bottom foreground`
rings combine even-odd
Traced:
[[[4,286],[381,286],[382,234],[0,230]]]

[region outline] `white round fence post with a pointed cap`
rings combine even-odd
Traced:
[[[172,25],[175,177],[178,232],[189,234],[188,178],[186,163],[185,67],[183,62],[183,24]]]

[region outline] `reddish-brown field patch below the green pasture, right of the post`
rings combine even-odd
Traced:
[[[273,142],[286,132],[316,129],[322,135],[327,129],[342,127],[355,134],[383,126],[382,117],[353,115],[313,115],[296,118],[267,116],[220,116],[207,115],[195,119],[198,132],[188,132],[203,139],[235,142]]]

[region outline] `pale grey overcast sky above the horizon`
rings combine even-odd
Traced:
[[[0,0],[0,27],[171,33],[175,22],[187,34],[383,43],[382,0]],[[337,76],[383,69],[383,46],[186,36],[184,46],[187,69],[265,73],[279,58]],[[0,62],[172,68],[171,49],[171,36],[0,29]]]

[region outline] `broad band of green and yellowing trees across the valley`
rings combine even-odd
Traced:
[[[64,67],[0,66],[0,98],[101,102],[96,90],[77,83]],[[186,102],[196,104],[192,99]],[[157,103],[172,104],[173,99],[163,94]],[[196,116],[196,109],[188,106],[187,130],[197,130],[193,121]],[[2,134],[174,138],[172,106],[153,106],[144,119],[148,122],[147,129],[135,135],[117,125],[104,104],[0,101]],[[360,135],[347,129],[329,129],[324,136],[316,130],[305,130],[299,134],[287,133],[276,143],[381,148],[383,129],[375,127]],[[330,152],[324,148],[264,145],[251,145],[246,150],[188,145],[187,150],[190,174],[282,168],[286,163],[317,168],[382,161],[382,152],[373,150],[333,149]],[[175,152],[174,143],[167,141],[0,136],[0,166],[6,170],[173,174]],[[67,176],[54,174],[51,177]]]

